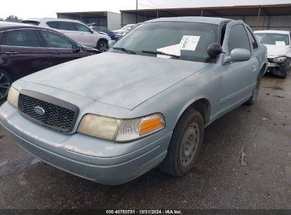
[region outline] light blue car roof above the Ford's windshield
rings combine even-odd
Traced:
[[[170,17],[170,18],[156,18],[146,23],[152,22],[188,22],[188,23],[210,23],[220,25],[224,21],[231,21],[228,18],[216,18],[216,17],[204,17],[204,16],[182,16],[182,17]]]

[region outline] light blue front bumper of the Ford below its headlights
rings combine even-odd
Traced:
[[[26,151],[59,169],[105,185],[133,180],[159,165],[172,132],[130,143],[84,134],[61,134],[22,117],[10,103],[0,108],[0,124]]]

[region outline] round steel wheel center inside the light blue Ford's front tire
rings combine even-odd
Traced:
[[[188,165],[194,158],[199,143],[200,129],[196,122],[190,124],[186,130],[180,149],[181,165]]]

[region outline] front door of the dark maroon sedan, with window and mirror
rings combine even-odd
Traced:
[[[45,42],[45,46],[51,55],[51,60],[54,65],[85,56],[84,50],[77,51],[76,43],[59,33],[54,33],[49,30],[38,30],[38,33]]]

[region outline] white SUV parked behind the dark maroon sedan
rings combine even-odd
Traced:
[[[81,45],[87,47],[96,47],[99,51],[108,50],[108,41],[111,40],[108,35],[91,30],[89,26],[81,21],[64,18],[33,18],[23,20],[22,23],[38,25],[43,28],[57,30],[64,35],[72,38]]]

